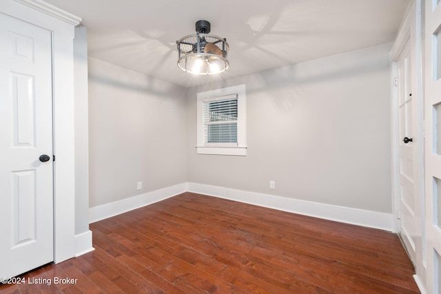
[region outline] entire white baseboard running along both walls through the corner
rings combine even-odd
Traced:
[[[89,209],[90,223],[117,216],[133,209],[145,207],[149,204],[172,198],[186,191],[254,204],[260,207],[278,209],[280,211],[298,213],[305,216],[313,216],[315,218],[323,218],[325,220],[334,220],[336,222],[356,224],[362,227],[394,231],[393,215],[391,213],[339,207],[331,204],[203,185],[194,182],[185,182],[172,187],[144,193],[139,196],[103,204],[99,207],[92,207]]]

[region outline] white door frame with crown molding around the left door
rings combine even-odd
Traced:
[[[75,255],[74,27],[81,19],[41,0],[0,0],[0,13],[52,31],[54,262]]]

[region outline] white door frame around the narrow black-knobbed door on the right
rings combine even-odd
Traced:
[[[413,142],[413,148],[417,149],[418,158],[414,160],[418,161],[418,178],[416,178],[416,185],[418,193],[415,193],[415,197],[418,197],[418,206],[416,206],[416,227],[417,227],[417,240],[418,244],[416,248],[416,260],[413,260],[416,265],[416,275],[414,278],[420,287],[424,289],[424,282],[426,280],[426,229],[425,229],[425,198],[424,198],[424,122],[423,122],[423,101],[422,101],[422,19],[421,19],[421,0],[412,1],[407,14],[404,17],[404,21],[398,32],[396,41],[393,43],[391,50],[391,147],[392,147],[392,206],[393,216],[395,221],[395,231],[398,232],[400,227],[400,182],[399,182],[399,154],[398,147],[402,138],[398,137],[399,134],[399,122],[398,122],[398,93],[396,87],[397,68],[395,61],[398,60],[404,45],[409,41],[411,45],[411,85],[413,99],[418,101],[418,117],[413,120],[413,124],[416,125],[418,130],[417,134],[413,134],[418,138],[416,142]]]

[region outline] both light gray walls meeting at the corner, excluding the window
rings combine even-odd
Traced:
[[[90,207],[196,182],[391,213],[390,48],[187,90],[89,59]],[[196,93],[243,83],[247,156],[196,154]]]

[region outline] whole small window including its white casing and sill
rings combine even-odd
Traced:
[[[198,154],[246,156],[245,85],[198,93]]]

